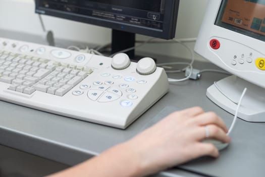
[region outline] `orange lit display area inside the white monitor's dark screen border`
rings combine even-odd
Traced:
[[[265,35],[265,1],[228,0],[221,21]]]

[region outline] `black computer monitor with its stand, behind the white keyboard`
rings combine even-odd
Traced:
[[[35,0],[36,13],[112,28],[112,53],[133,47],[135,34],[175,36],[179,0]],[[128,52],[134,57],[134,50]]]

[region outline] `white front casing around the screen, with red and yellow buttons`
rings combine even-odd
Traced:
[[[265,42],[216,25],[221,5],[222,0],[208,2],[194,51],[232,74],[265,87],[265,71],[255,65],[258,58],[265,58]],[[212,39],[220,41],[220,49],[211,48]],[[252,63],[248,63],[246,58],[251,58]],[[240,59],[244,60],[244,64],[238,63]],[[237,62],[236,66],[232,65],[233,60]]]

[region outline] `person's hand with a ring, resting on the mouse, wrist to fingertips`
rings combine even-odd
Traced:
[[[194,107],[170,114],[125,145],[138,158],[139,175],[152,174],[200,156],[218,157],[213,144],[201,143],[206,138],[205,126],[207,138],[230,142],[226,125],[217,114]]]

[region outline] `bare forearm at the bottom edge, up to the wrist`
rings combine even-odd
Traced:
[[[144,169],[140,159],[128,143],[115,146],[97,157],[49,177],[60,176],[141,176]]]

